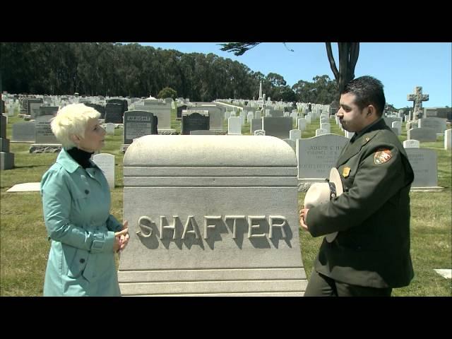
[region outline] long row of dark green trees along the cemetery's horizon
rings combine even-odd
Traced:
[[[258,43],[253,43],[257,45]],[[244,47],[252,48],[251,43]],[[237,47],[239,48],[239,47]],[[337,90],[328,76],[300,80],[264,75],[213,53],[182,53],[141,44],[111,42],[0,42],[0,74],[9,93],[189,97],[191,101],[258,98],[331,103]]]

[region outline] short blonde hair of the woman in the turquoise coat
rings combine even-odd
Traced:
[[[84,104],[71,104],[59,109],[57,117],[52,119],[50,126],[64,148],[73,148],[71,136],[85,137],[85,129],[90,119],[99,119],[100,113],[93,107]]]

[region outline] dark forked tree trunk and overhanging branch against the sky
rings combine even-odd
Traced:
[[[235,55],[239,56],[260,43],[261,42],[229,42],[227,44],[221,44],[223,46],[221,50],[234,52]],[[355,78],[355,66],[359,56],[359,42],[338,42],[339,70],[335,64],[333,51],[331,50],[331,42],[326,42],[325,44],[331,71],[333,71],[335,81],[338,85],[338,94],[336,97],[339,97],[340,93],[345,88],[345,85]]]

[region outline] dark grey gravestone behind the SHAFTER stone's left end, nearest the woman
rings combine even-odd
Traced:
[[[145,111],[124,112],[124,144],[150,134],[157,134],[157,117],[154,114]]]

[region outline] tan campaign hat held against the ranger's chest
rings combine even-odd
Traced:
[[[314,206],[328,203],[331,199],[344,193],[342,182],[340,181],[340,174],[338,169],[333,167],[330,171],[329,182],[316,182],[309,187],[304,196],[304,208],[311,208]],[[338,232],[326,234],[326,241],[333,242]]]

